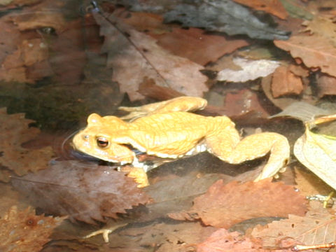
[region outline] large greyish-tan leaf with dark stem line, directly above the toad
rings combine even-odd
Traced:
[[[127,32],[126,37],[111,24],[115,22],[113,14],[107,17],[110,21],[97,13],[94,18],[105,36],[102,52],[108,53],[107,66],[113,68],[113,80],[118,81],[120,91],[127,92],[131,101],[144,98],[137,92],[144,78],[153,78],[157,85],[190,96],[202,97],[208,90],[207,77],[200,73],[203,67],[199,64],[169,54],[151,36],[118,22],[118,29]]]

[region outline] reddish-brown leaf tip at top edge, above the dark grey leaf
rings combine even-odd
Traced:
[[[255,10],[262,10],[267,13],[271,13],[278,18],[285,19],[288,16],[286,9],[283,7],[279,0],[234,0],[236,3],[244,4]]]

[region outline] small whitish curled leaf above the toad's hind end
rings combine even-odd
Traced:
[[[217,80],[232,82],[255,80],[259,77],[268,76],[279,66],[279,62],[267,59],[248,60],[236,57],[233,59],[233,62],[237,64],[237,66],[240,66],[241,70],[234,71],[231,69],[224,69],[218,73]]]

